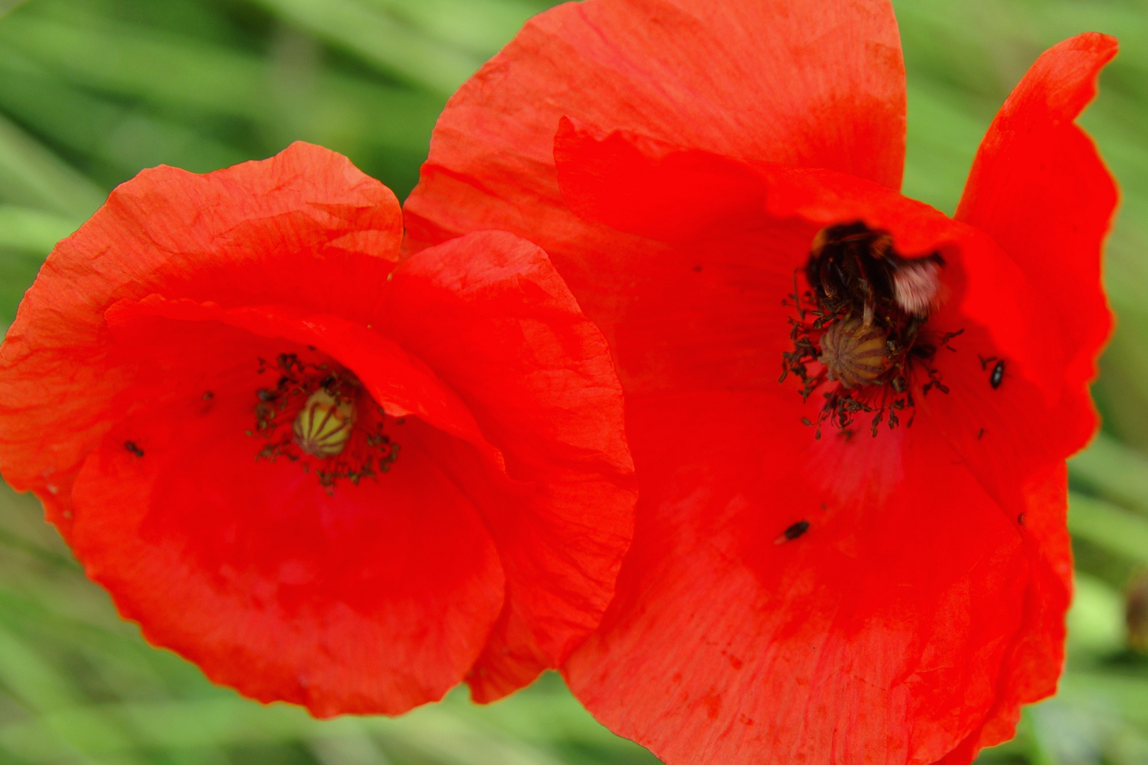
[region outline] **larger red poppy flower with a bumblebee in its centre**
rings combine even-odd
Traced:
[[[968,763],[1053,693],[1115,52],[1037,62],[954,219],[897,190],[884,0],[568,3],[455,95],[411,249],[536,241],[627,392],[634,547],[565,668],[599,720],[672,765]]]

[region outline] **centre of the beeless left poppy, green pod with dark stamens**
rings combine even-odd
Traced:
[[[274,365],[259,359],[258,373],[269,372],[278,381],[255,391],[255,428],[247,431],[267,442],[256,460],[300,462],[327,493],[340,479],[357,485],[390,469],[398,444],[382,432],[386,414],[352,372],[295,353],[280,353]]]

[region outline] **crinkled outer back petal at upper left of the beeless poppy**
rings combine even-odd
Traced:
[[[5,478],[36,491],[67,529],[71,482],[129,384],[98,350],[116,300],[161,292],[242,305],[277,295],[357,318],[389,271],[380,260],[397,258],[400,216],[386,186],[301,142],[265,162],[207,175],[161,166],[118,187],[48,256],[0,349]],[[344,260],[332,268],[331,258]]]

